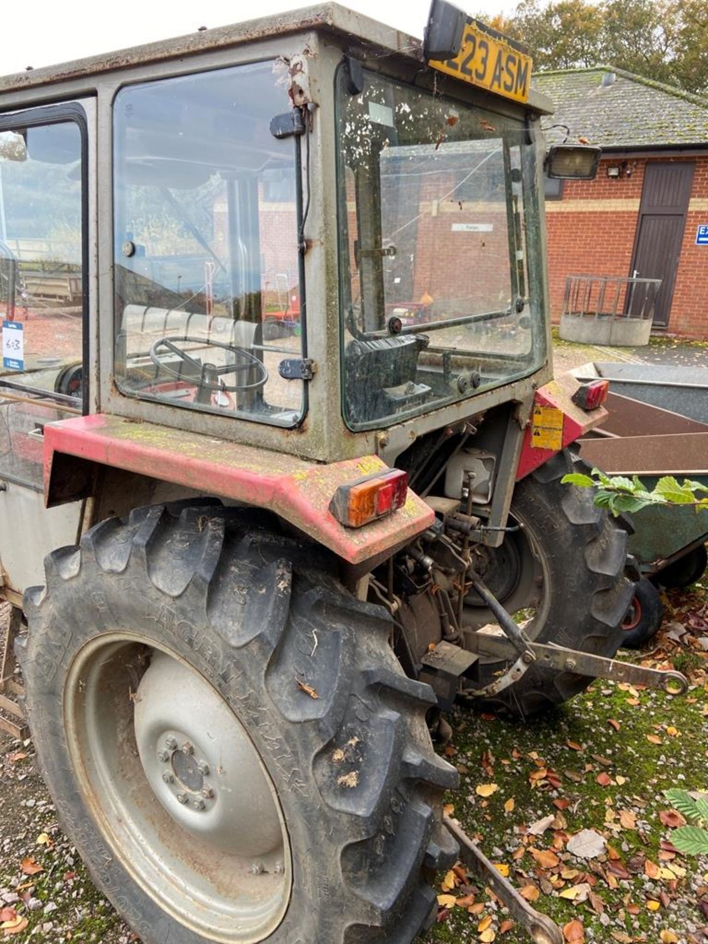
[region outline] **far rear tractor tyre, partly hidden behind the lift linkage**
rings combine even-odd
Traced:
[[[533,641],[611,658],[623,642],[621,623],[634,586],[625,576],[627,532],[595,505],[590,489],[561,483],[579,464],[564,450],[517,483],[511,514],[522,530],[504,542],[515,540],[514,554],[503,545],[499,551],[505,561],[517,560],[520,570],[514,582],[504,578],[509,589],[500,602],[512,613],[532,610],[525,630]],[[474,616],[474,610],[466,612]],[[495,622],[488,611],[478,613],[478,625],[481,619]],[[475,687],[494,682],[508,667],[490,660],[477,666]],[[576,672],[531,666],[516,683],[477,705],[526,718],[562,704],[591,682]]]

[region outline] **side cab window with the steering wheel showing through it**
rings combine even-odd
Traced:
[[[115,120],[122,391],[294,426],[303,382],[295,143],[278,66],[123,89]]]

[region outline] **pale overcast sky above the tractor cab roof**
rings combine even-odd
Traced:
[[[344,0],[384,23],[422,37],[430,0]],[[22,72],[141,42],[191,33],[199,26],[239,23],[267,13],[308,6],[298,0],[0,0],[0,75]],[[458,0],[490,16],[509,11],[508,0]]]

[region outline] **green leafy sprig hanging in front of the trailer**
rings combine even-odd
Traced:
[[[598,468],[594,468],[590,475],[571,472],[561,481],[581,488],[594,488],[595,504],[607,508],[615,516],[622,512],[638,512],[649,505],[693,505],[697,511],[708,510],[707,485],[690,479],[680,483],[672,475],[662,476],[650,491],[636,476],[632,479],[621,475],[609,476]]]

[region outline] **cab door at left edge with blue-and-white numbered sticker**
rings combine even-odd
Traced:
[[[0,563],[8,598],[74,544],[83,502],[47,510],[46,423],[89,402],[93,100],[0,115]],[[15,600],[16,601],[16,600]]]

